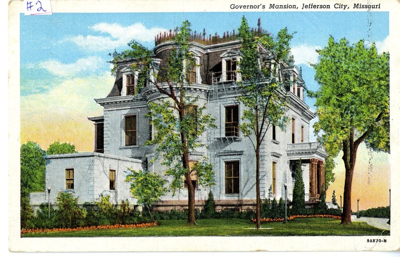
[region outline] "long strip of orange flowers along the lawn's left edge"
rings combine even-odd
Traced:
[[[21,234],[24,233],[39,233],[39,232],[69,232],[69,231],[79,231],[79,230],[95,230],[95,229],[107,229],[107,228],[137,228],[137,227],[149,227],[159,225],[158,222],[147,222],[138,224],[115,224],[115,225],[98,225],[98,226],[84,226],[75,228],[29,228],[21,229]]]

